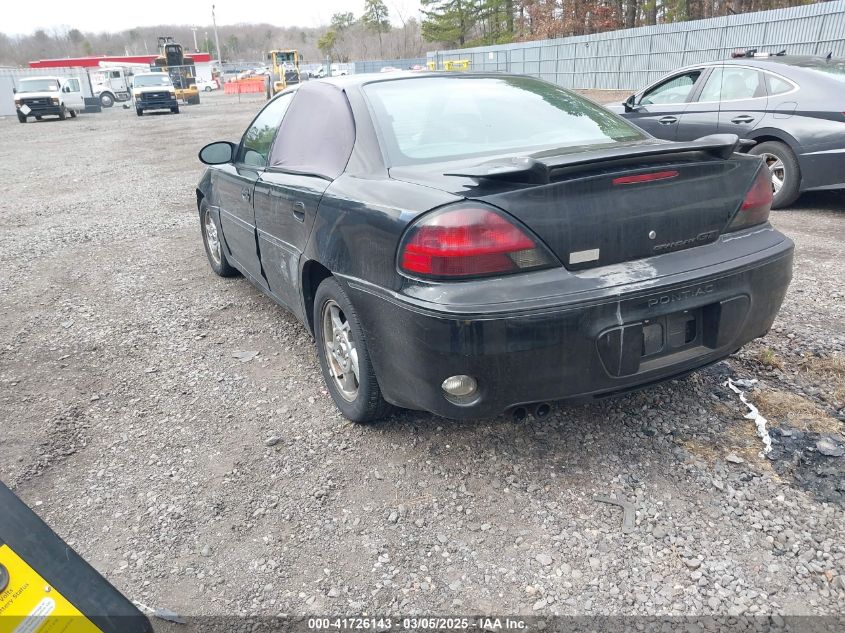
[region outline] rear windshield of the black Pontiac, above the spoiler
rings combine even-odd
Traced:
[[[531,77],[421,77],[364,87],[391,165],[645,138],[620,117]]]

